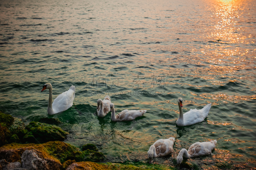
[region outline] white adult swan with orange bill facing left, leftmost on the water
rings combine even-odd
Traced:
[[[75,91],[76,88],[74,85],[71,85],[68,91],[60,94],[56,99],[54,99],[52,103],[52,85],[50,83],[46,83],[43,85],[43,92],[45,89],[49,89],[49,100],[48,100],[48,115],[53,115],[64,110],[67,110],[69,107],[73,105],[73,101],[75,99]]]

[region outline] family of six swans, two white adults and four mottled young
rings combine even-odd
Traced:
[[[48,100],[48,108],[47,113],[49,115],[53,115],[62,111],[67,110],[73,105],[73,101],[75,99],[75,86],[71,85],[68,91],[63,92],[62,94],[58,95],[56,99],[52,102],[52,85],[50,83],[46,83],[43,85],[44,90],[49,89],[49,100]],[[178,120],[176,121],[177,126],[188,126],[198,122],[204,121],[207,117],[211,103],[204,106],[202,109],[190,109],[187,113],[183,114],[182,111],[182,98],[178,98],[178,107],[180,111],[180,115]],[[115,113],[115,105],[111,102],[109,96],[106,96],[103,100],[97,100],[97,113],[98,117],[105,117],[108,112],[111,111],[111,121],[113,122],[120,122],[120,121],[131,121],[136,119],[137,117],[143,116],[147,110],[123,110],[119,114],[116,115]],[[173,152],[173,145],[174,145],[175,138],[170,137],[168,139],[159,139],[154,144],[152,144],[148,150],[148,159],[149,164],[152,163],[153,157],[161,157],[169,155]],[[180,150],[179,155],[177,156],[177,164],[180,166],[183,157],[191,158],[203,155],[210,155],[212,150],[215,148],[217,141],[213,140],[210,142],[196,142],[192,144],[188,151],[183,148]]]

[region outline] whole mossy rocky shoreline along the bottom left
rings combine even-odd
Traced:
[[[25,126],[21,119],[0,112],[0,170],[173,169],[100,163],[105,156],[94,144],[79,149],[62,142],[68,132],[57,126],[60,123],[58,119],[43,118]]]

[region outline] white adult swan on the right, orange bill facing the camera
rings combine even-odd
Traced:
[[[203,122],[204,119],[207,117],[211,108],[211,103],[209,103],[208,105],[206,105],[204,108],[200,110],[190,109],[187,113],[183,115],[183,111],[181,108],[182,98],[178,98],[178,105],[180,109],[180,116],[179,116],[179,119],[176,121],[176,124],[178,126],[188,126],[198,122]]]

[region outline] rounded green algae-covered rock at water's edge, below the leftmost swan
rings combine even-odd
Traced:
[[[38,142],[63,141],[68,135],[60,127],[40,122],[30,122],[26,129]]]

